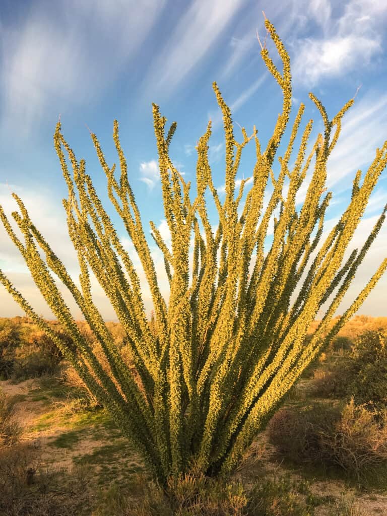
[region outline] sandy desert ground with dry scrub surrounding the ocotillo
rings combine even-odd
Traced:
[[[56,321],[47,324],[61,331]],[[122,327],[108,324],[131,367]],[[366,516],[387,509],[387,318],[348,322],[256,434],[232,476],[176,478],[164,490],[36,325],[15,317],[0,319],[0,327],[12,336],[9,345],[2,341],[7,353],[0,363],[7,364],[0,381],[4,516]],[[20,360],[30,364],[24,375]],[[356,381],[360,370],[364,383]],[[382,389],[369,390],[374,375],[378,385],[384,381],[384,397]],[[23,394],[5,394],[18,389]],[[29,411],[34,417],[26,423]],[[98,446],[86,451],[90,442]],[[71,459],[60,467],[63,456]]]

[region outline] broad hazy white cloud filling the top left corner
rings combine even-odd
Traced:
[[[55,12],[38,1],[23,23],[3,26],[2,133],[15,127],[27,137],[58,104],[98,99],[134,56],[165,4],[71,0],[56,2]]]

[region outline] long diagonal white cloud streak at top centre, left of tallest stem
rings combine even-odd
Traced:
[[[246,0],[194,0],[179,20],[164,49],[155,57],[144,94],[170,94],[203,59]]]

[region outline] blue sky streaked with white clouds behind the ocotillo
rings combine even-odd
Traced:
[[[31,219],[77,280],[79,266],[61,203],[67,197],[67,187],[53,144],[60,114],[63,135],[77,159],[86,159],[86,171],[125,248],[138,265],[149,315],[151,297],[140,262],[108,199],[106,176],[85,125],[98,137],[109,166],[118,165],[112,139],[113,121],[117,119],[128,178],[162,292],[168,300],[162,254],[149,227],[149,221],[154,221],[167,245],[170,244],[158,176],[152,102],[160,106],[168,126],[172,121],[178,122],[170,154],[185,180],[192,182],[191,199],[196,192],[195,146],[211,118],[209,160],[214,184],[224,201],[224,134],[213,81],[231,107],[239,141],[242,135],[237,123],[249,135],[255,124],[265,144],[282,105],[281,90],[266,71],[256,39],[256,31],[260,37],[265,36],[262,10],[275,25],[291,57],[294,88],[291,122],[300,101],[304,102],[304,124],[309,118],[315,121],[311,142],[321,131],[322,123],[308,92],[318,96],[332,118],[361,85],[355,104],[344,118],[341,138],[328,165],[327,186],[333,191],[325,224],[328,231],[348,203],[354,174],[359,168],[365,173],[375,149],[387,139],[384,28],[387,3],[384,0],[3,0],[0,6],[0,204],[17,233],[20,234],[17,224],[10,215],[17,209],[11,191],[24,201]],[[278,63],[271,42],[268,48]],[[245,148],[237,186],[243,177],[252,175],[254,155],[252,141]],[[248,191],[249,185],[246,186]],[[211,196],[207,199],[210,201]],[[302,202],[302,191],[299,201]],[[386,202],[384,171],[349,251],[363,243]],[[216,228],[217,212],[214,204],[209,206],[210,222]],[[348,307],[387,256],[386,236],[385,223],[337,313]],[[270,236],[268,244],[269,240]],[[0,268],[39,314],[53,318],[2,224]],[[58,285],[61,285],[59,281]],[[116,320],[95,278],[92,285],[95,304],[104,318]],[[386,287],[384,275],[359,313],[386,316]],[[62,286],[61,291],[74,317],[80,319],[82,314],[66,287]],[[19,305],[0,286],[0,316],[22,314]]]

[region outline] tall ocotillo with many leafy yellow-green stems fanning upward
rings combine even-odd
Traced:
[[[170,475],[185,472],[212,476],[232,472],[285,393],[321,348],[359,309],[387,268],[386,258],[350,308],[329,329],[332,316],[385,218],[387,207],[362,249],[354,250],[348,259],[344,259],[369,196],[385,168],[387,142],[376,151],[362,184],[361,171],[356,173],[348,207],[324,244],[317,247],[331,199],[331,192],[322,197],[327,178],[327,160],[340,135],[342,118],[354,100],[347,102],[330,120],[321,102],[310,94],[324,121],[324,134],[318,135],[308,155],[307,143],[313,125],[310,120],[302,132],[295,163],[292,167],[289,165],[304,112],[304,104],[301,104],[286,151],[282,157],[278,157],[278,174],[275,174],[274,160],[291,112],[291,68],[288,54],[275,28],[268,20],[265,25],[283,63],[281,73],[266,47],[262,48],[262,58],[283,91],[282,113],[265,149],[261,148],[255,126],[250,137],[243,128],[244,139],[241,143],[237,142],[230,109],[216,83],[213,84],[222,110],[225,132],[224,204],[219,201],[208,164],[211,121],[197,145],[197,196],[191,202],[190,183],[185,183],[169,157],[176,123],[172,123],[166,135],[166,118],[153,104],[171,249],[154,223],[150,222],[150,225],[152,236],[164,254],[170,285],[168,307],[159,289],[139,210],[128,182],[125,157],[118,137],[118,122],[114,121],[114,140],[120,158],[119,182],[115,178],[115,165],[109,169],[99,141],[91,133],[107,176],[109,198],[125,224],[149,283],[155,312],[152,325],[146,318],[139,277],[131,257],[122,247],[96,195],[91,177],[85,173],[85,160],[80,160],[78,164],[63,138],[60,120],[54,142],[69,190],[69,197],[63,199],[63,206],[67,212],[69,235],[78,255],[82,291],[74,284],[15,193],[12,195],[21,213],[13,212],[12,216],[24,235],[24,245],[13,232],[3,209],[0,211],[8,234],[22,253],[44,299],[76,343],[77,351],[74,352],[58,339],[0,271],[3,285],[28,316],[62,349],[90,391],[110,411],[136,449],[141,451],[154,477],[162,483]],[[238,205],[248,179],[241,182],[235,199],[235,177],[241,152],[252,138],[256,150],[253,182],[243,213],[238,216]],[[62,144],[72,163],[73,179],[67,168]],[[313,169],[312,179],[303,205],[297,211],[296,192],[310,167]],[[263,199],[269,181],[273,190],[264,211]],[[288,187],[285,193],[286,182]],[[204,200],[207,186],[219,213],[215,235],[209,224]],[[271,247],[265,252],[265,237],[276,208],[279,208],[279,216],[274,219]],[[198,217],[202,221],[205,238],[200,232]],[[195,240],[190,282],[189,246],[192,231]],[[45,254],[45,261],[38,252],[38,245]],[[255,263],[250,270],[250,261],[254,257]],[[89,267],[126,332],[126,342],[133,356],[131,370],[121,360],[112,335],[93,304]],[[79,332],[49,268],[69,288],[94,332],[105,357],[104,366]],[[292,296],[293,293],[295,296]],[[305,341],[311,322],[328,300],[331,300],[329,307],[318,328],[311,340]]]

